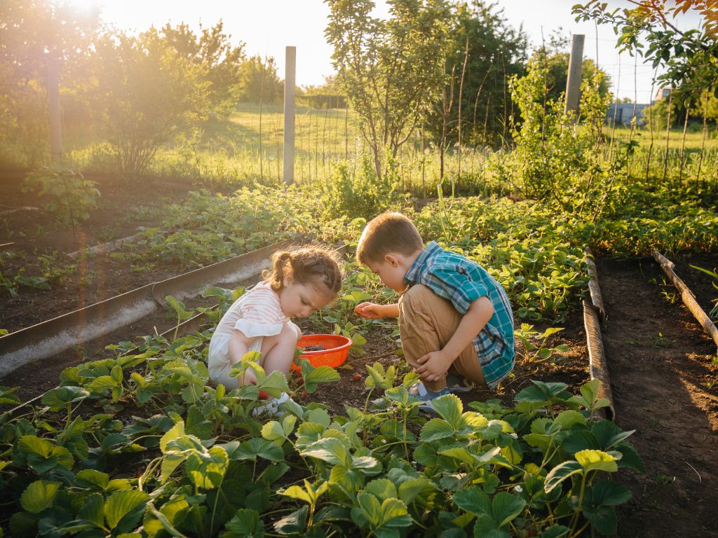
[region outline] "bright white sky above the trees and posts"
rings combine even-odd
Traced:
[[[332,47],[324,31],[329,8],[322,0],[67,0],[90,9],[98,6],[102,19],[118,29],[141,32],[167,22],[186,22],[192,28],[201,23],[210,27],[222,19],[232,42],[244,42],[248,55],[274,57],[278,75],[284,78],[287,46],[297,47],[297,85],[320,85],[331,75]],[[496,0],[510,26],[528,34],[533,46],[541,44],[561,29],[564,34],[584,34],[584,57],[598,59],[598,65],[611,77],[612,92],[620,98],[648,103],[651,99],[653,69],[642,59],[624,53],[618,55],[612,27],[594,22],[575,22],[571,8],[578,0]],[[388,7],[376,0],[375,15],[385,17]],[[610,7],[628,5],[613,0]],[[681,27],[697,27],[699,19],[689,16]],[[654,93],[656,88],[654,88]]]

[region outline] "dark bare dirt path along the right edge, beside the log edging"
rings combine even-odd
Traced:
[[[716,347],[651,258],[599,260],[598,272],[617,423],[636,430],[648,470],[623,473],[633,499],[618,535],[718,536]]]

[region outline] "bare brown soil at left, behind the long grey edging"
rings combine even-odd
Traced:
[[[133,268],[126,260],[105,255],[67,253],[85,247],[135,235],[139,227],[159,224],[157,211],[162,204],[180,202],[195,189],[189,182],[147,180],[136,184],[112,176],[89,176],[98,181],[101,196],[98,209],[75,230],[62,225],[44,212],[34,194],[22,192],[24,171],[0,170],[0,244],[13,243],[0,251],[0,273],[5,278],[24,271],[26,276],[42,276],[38,257],[50,255],[50,268],[64,275],[51,280],[52,290],[22,286],[17,297],[0,287],[0,329],[17,331],[41,321],[103,301],[139,286],[182,273],[172,264],[157,263]],[[140,195],[138,193],[141,193]],[[37,207],[1,214],[18,207]]]

